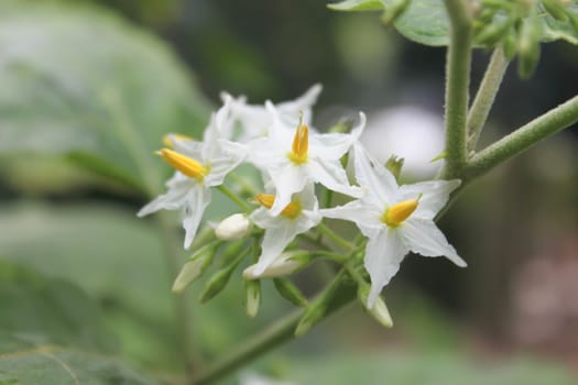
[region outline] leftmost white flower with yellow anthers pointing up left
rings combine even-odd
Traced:
[[[166,183],[166,194],[159,196],[138,213],[144,217],[161,209],[183,209],[185,249],[190,246],[203,212],[210,202],[210,187],[221,185],[226,175],[246,156],[242,145],[220,139],[228,114],[229,106],[225,105],[211,116],[203,142],[179,140],[175,135],[170,138],[174,150],[163,148],[159,154],[177,172]]]

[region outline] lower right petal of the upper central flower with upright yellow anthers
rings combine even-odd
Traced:
[[[352,197],[360,197],[363,194],[361,188],[349,185],[347,174],[337,160],[324,162],[310,160],[304,166],[310,180],[318,182],[330,190]]]

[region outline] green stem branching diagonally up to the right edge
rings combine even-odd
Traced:
[[[531,148],[537,142],[578,122],[578,96],[534,119],[475,155],[464,178],[472,179],[500,163]]]

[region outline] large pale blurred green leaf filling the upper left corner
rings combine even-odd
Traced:
[[[157,37],[96,7],[0,4],[0,154],[64,156],[152,195],[166,132],[194,136],[208,108]]]

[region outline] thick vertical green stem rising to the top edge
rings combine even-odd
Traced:
[[[468,114],[471,12],[464,0],[445,0],[451,34],[446,61],[446,165],[445,178],[459,174],[466,164],[466,123]]]

